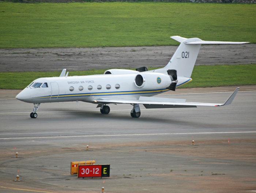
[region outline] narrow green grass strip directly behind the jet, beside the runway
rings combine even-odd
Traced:
[[[151,70],[153,68],[150,68]],[[69,76],[103,74],[105,70],[71,71]],[[0,89],[23,89],[39,77],[60,76],[61,72],[0,72]],[[180,88],[241,86],[256,84],[256,64],[196,66],[192,82]]]

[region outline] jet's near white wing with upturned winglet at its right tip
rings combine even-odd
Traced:
[[[186,102],[186,99],[174,98],[160,98],[160,97],[147,97],[140,96],[139,99],[120,99],[120,98],[99,98],[94,102],[97,103],[127,103],[127,104],[142,104],[147,109],[154,108],[184,108],[184,107],[197,107],[197,106],[224,106],[230,105],[235,98],[239,87],[229,96],[225,103],[199,103],[199,102]]]

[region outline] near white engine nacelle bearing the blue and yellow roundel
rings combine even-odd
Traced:
[[[139,73],[135,76],[134,83],[145,90],[167,88],[172,83],[169,75],[154,72]]]

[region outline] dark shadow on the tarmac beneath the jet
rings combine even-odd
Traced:
[[[67,117],[66,116],[74,116],[72,117],[72,119],[82,119],[82,120],[87,120],[90,119],[90,122],[94,122],[97,123],[99,120],[100,121],[108,121],[108,122],[113,122],[113,123],[118,123],[118,122],[133,122],[136,124],[150,124],[150,123],[154,123],[154,124],[161,124],[161,125],[182,125],[182,126],[188,126],[189,128],[219,128],[219,127],[223,127],[222,124],[219,124],[218,122],[205,122],[202,121],[202,116],[198,116],[196,119],[195,118],[191,118],[191,119],[185,119],[184,117],[186,117],[186,115],[184,114],[178,114],[178,115],[173,115],[171,110],[170,112],[166,111],[167,115],[166,116],[154,116],[153,114],[148,114],[147,111],[142,110],[142,116],[140,118],[132,118],[129,114],[129,111],[125,111],[124,113],[118,113],[118,111],[113,111],[110,112],[109,114],[101,114],[100,112],[98,112],[97,110],[95,111],[91,111],[91,110],[77,110],[74,109],[74,111],[72,111],[72,109],[51,109],[52,111],[57,111],[57,114],[61,114],[61,115],[65,115],[64,117],[59,117],[56,115],[56,117],[54,118],[56,121],[62,121],[62,120],[66,120]],[[191,113],[195,113],[195,111],[197,111],[197,113],[200,113],[200,110],[192,110],[190,109],[190,111],[192,112],[187,112],[187,115],[191,114]],[[52,113],[50,113],[52,114]],[[40,115],[39,117],[41,117],[42,115]],[[211,115],[209,115],[211,116]],[[41,118],[39,118],[41,119]],[[43,117],[42,119],[44,119],[44,121],[48,121],[47,117]],[[52,116],[50,116],[50,119],[52,119]]]

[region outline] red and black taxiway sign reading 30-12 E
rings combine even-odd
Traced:
[[[110,164],[106,165],[79,165],[78,178],[109,177]]]

